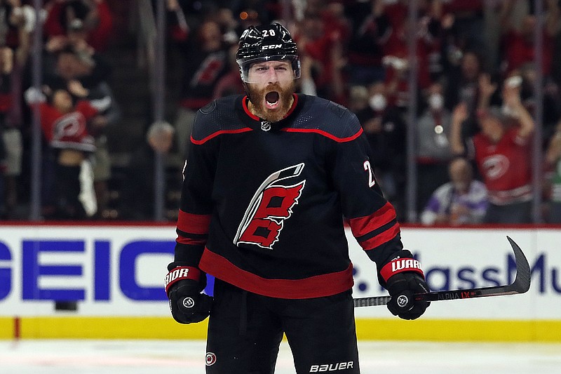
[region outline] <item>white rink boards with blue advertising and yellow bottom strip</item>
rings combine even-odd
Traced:
[[[417,321],[360,307],[358,338],[561,342],[560,233],[403,227],[432,290],[510,283],[507,235],[529,260],[532,286],[523,295],[433,302]],[[374,263],[347,235],[354,296],[384,295]],[[182,326],[170,317],[162,285],[174,242],[172,225],[0,226],[0,338],[205,338],[206,323]],[[56,310],[55,300],[77,308]]]

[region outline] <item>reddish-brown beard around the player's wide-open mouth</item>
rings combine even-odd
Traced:
[[[269,122],[278,122],[285,118],[292,105],[292,94],[295,93],[295,88],[295,81],[291,81],[285,88],[281,87],[280,84],[269,84],[269,86],[259,89],[252,84],[245,84],[245,91],[251,102],[253,114]],[[265,102],[273,92],[278,93],[278,107],[271,109],[266,107]]]

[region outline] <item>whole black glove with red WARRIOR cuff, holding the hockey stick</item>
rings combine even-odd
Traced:
[[[401,319],[417,319],[431,302],[415,300],[415,293],[428,293],[419,261],[412,258],[410,251],[403,250],[398,257],[388,262],[380,271],[386,281],[386,288],[391,296],[387,307],[391,314]]]

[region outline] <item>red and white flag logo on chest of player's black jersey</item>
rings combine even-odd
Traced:
[[[273,249],[278,241],[284,221],[292,215],[292,207],[298,203],[306,180],[296,185],[278,185],[280,180],[295,178],[304,168],[304,163],[290,166],[269,175],[253,195],[243,215],[234,244],[255,244]]]

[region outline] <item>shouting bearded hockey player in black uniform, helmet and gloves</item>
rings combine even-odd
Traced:
[[[165,290],[173,318],[208,322],[206,373],[272,374],[286,335],[297,373],[360,373],[344,220],[377,264],[388,309],[417,319],[419,262],[377,184],[360,123],[295,94],[297,46],[249,27],[237,52],[247,95],[198,111]],[[214,295],[205,274],[215,276]],[[374,276],[374,274],[373,274]]]

